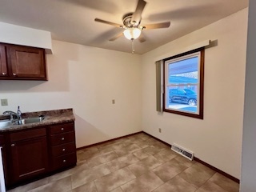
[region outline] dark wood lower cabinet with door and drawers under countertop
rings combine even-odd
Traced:
[[[0,133],[10,188],[76,166],[74,122]]]

